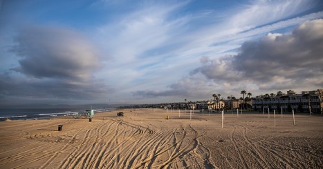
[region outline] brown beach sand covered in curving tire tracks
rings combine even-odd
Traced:
[[[323,168],[322,116],[236,113],[2,121],[0,168]]]

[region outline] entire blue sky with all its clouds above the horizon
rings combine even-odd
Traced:
[[[323,86],[323,2],[0,1],[0,101],[165,103]]]

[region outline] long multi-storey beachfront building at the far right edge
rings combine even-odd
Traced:
[[[283,112],[313,112],[323,114],[323,89],[295,93],[293,90],[287,94],[277,92],[277,95],[261,95],[252,99],[252,108],[262,111],[270,109]]]

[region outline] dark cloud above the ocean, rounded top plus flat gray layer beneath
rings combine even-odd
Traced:
[[[112,92],[94,76],[100,69],[95,47],[71,29],[43,26],[21,29],[10,52],[19,57],[19,66],[0,74],[2,99],[86,100]]]

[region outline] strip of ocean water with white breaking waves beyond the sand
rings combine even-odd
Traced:
[[[94,110],[95,113],[114,110],[115,108],[102,108]],[[77,116],[84,112],[84,108],[8,108],[0,109],[0,121],[23,119],[49,119],[53,117]]]

